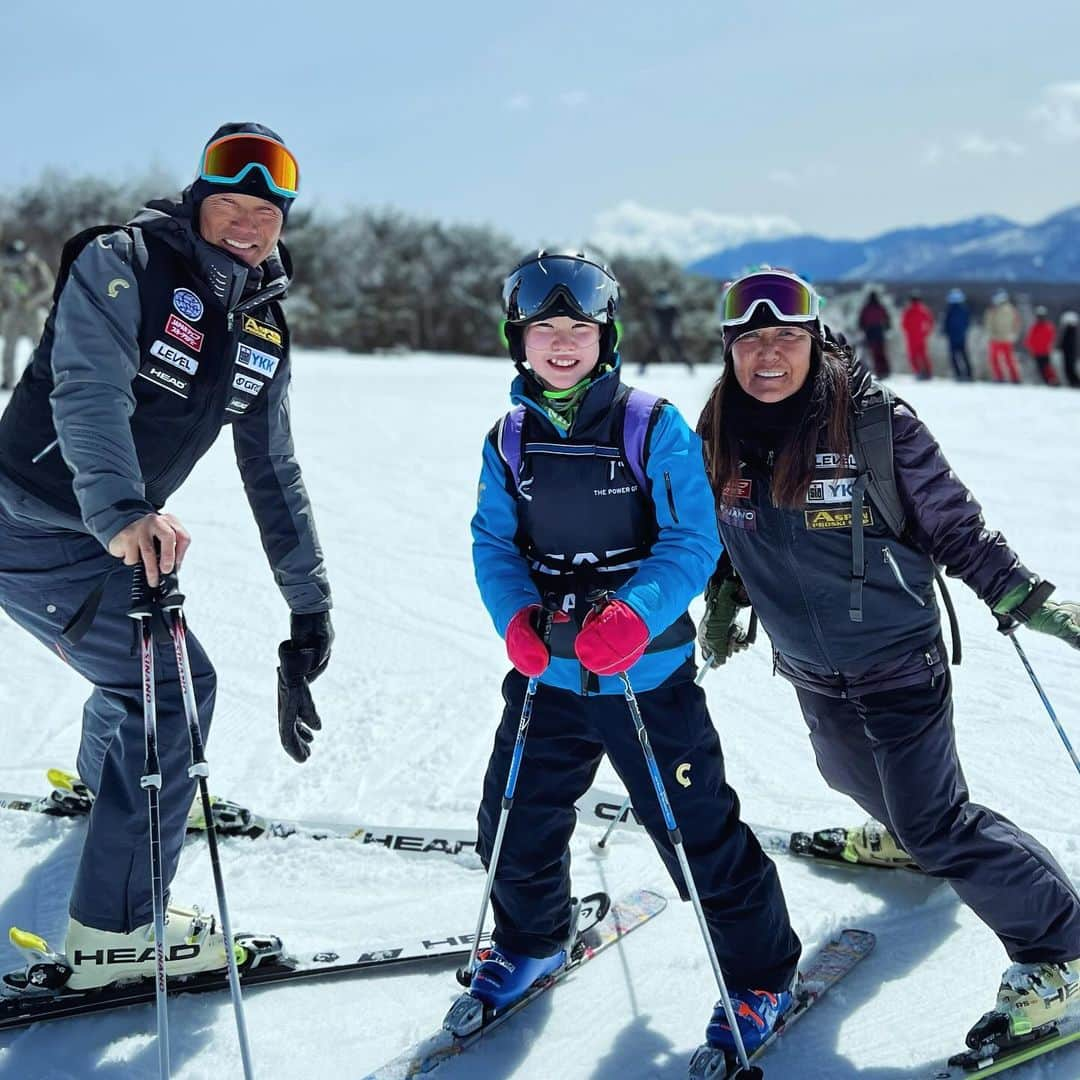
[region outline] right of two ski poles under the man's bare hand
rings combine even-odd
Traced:
[[[210,801],[210,765],[206,761],[202,729],[199,727],[199,706],[195,703],[194,687],[191,685],[191,662],[188,658],[188,625],[184,617],[184,594],[179,591],[179,582],[175,573],[166,575],[162,579],[160,597],[161,608],[165,612],[168,632],[173,638],[173,651],[176,653],[176,672],[180,680],[180,691],[184,696],[184,713],[188,721],[188,741],[191,745],[191,765],[188,767],[188,775],[199,782],[199,796],[202,800],[203,819],[206,822],[206,842],[210,847],[210,863],[214,872],[217,909],[221,917],[221,934],[225,937],[225,956],[229,969],[229,991],[232,995],[232,1010],[237,1017],[240,1058],[243,1064],[245,1080],[252,1080],[255,1072],[252,1067],[252,1052],[247,1040],[247,1023],[244,1020],[244,1002],[240,995],[240,971],[237,968],[237,954],[233,945],[232,923],[229,919],[229,905],[225,899],[225,879],[221,876],[221,859],[217,847],[217,823],[214,819],[214,811]]]

